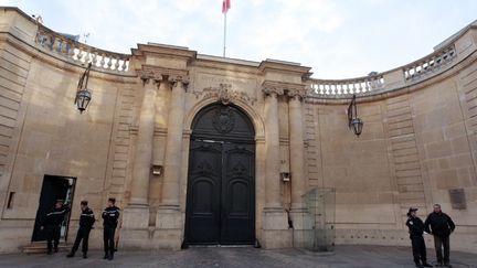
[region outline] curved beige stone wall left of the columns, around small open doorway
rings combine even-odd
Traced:
[[[0,12],[0,251],[12,251],[31,240],[44,175],[77,179],[70,239],[81,200],[88,200],[98,217],[108,195],[123,196],[138,79],[93,69],[93,101],[80,115],[74,98],[86,65],[40,45],[39,25],[19,10]],[[112,161],[115,154],[123,154],[124,163]],[[93,231],[93,245],[100,245],[99,237],[99,229]]]

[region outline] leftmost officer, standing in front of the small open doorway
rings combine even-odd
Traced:
[[[41,229],[46,232],[47,254],[52,254],[54,242],[54,251],[57,253],[60,244],[60,232],[65,215],[70,212],[70,206],[63,204],[63,200],[57,200],[54,207],[46,214]]]

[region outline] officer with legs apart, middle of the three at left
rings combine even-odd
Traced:
[[[87,201],[81,202],[82,214],[80,216],[80,228],[76,234],[75,243],[73,244],[72,250],[66,257],[74,257],[76,250],[80,247],[80,243],[83,240],[83,258],[87,258],[87,246],[89,239],[89,232],[93,228],[95,222],[93,211],[87,206]]]

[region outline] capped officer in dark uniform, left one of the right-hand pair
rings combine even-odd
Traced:
[[[416,211],[417,208],[410,207],[406,221],[406,225],[410,229],[410,238],[413,248],[414,262],[416,267],[433,267],[432,265],[427,264],[426,247],[423,237],[425,227],[423,221],[417,217]]]

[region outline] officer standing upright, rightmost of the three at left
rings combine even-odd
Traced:
[[[119,207],[115,206],[116,200],[109,199],[108,206],[103,212],[103,240],[104,240],[104,249],[105,256],[104,259],[112,260],[114,258],[115,251],[115,243],[114,236],[116,232],[116,227],[119,218]]]

